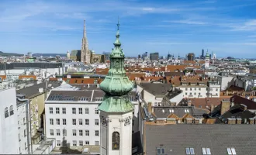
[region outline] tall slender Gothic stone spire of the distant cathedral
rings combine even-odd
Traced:
[[[91,51],[88,49],[88,40],[86,37],[85,20],[84,20],[84,36],[81,40],[81,62],[91,63]]]

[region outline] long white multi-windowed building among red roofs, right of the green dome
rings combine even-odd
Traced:
[[[213,81],[185,82],[178,86],[183,91],[183,98],[220,98],[220,84]]]

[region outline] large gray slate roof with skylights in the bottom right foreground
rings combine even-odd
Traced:
[[[227,147],[234,147],[237,155],[256,154],[255,125],[146,125],[144,134],[147,155],[157,154],[157,146],[168,155],[186,154],[185,147],[193,147],[195,154],[202,154],[202,147],[213,155],[227,154]]]

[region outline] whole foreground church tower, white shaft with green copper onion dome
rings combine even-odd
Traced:
[[[100,143],[102,155],[132,154],[133,104],[128,93],[133,83],[124,70],[124,53],[119,41],[119,22],[117,24],[115,48],[110,54],[109,73],[100,84],[106,95],[99,105]]]

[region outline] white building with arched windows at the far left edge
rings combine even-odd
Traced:
[[[19,129],[16,89],[12,84],[0,87],[0,154],[19,154]]]

